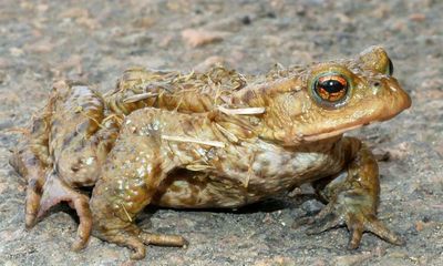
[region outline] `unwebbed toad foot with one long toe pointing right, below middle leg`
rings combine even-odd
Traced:
[[[187,245],[186,239],[182,236],[151,234],[138,229],[133,224],[124,229],[112,229],[97,235],[104,241],[134,249],[134,253],[131,255],[131,259],[144,258],[146,255],[145,245],[175,247],[183,247]]]

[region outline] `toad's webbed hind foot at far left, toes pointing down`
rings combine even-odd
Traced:
[[[92,215],[89,205],[89,197],[69,187],[54,173],[47,177],[43,186],[43,195],[40,202],[38,218],[55,206],[60,202],[68,202],[69,205],[76,211],[80,218],[80,224],[76,233],[76,239],[72,244],[73,250],[84,248],[91,235]]]

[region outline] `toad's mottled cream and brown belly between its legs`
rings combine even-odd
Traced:
[[[305,152],[257,143],[253,147],[227,149],[226,156],[218,156],[218,164],[208,164],[208,172],[169,173],[152,203],[174,208],[239,207],[336,174],[346,164],[340,143]]]

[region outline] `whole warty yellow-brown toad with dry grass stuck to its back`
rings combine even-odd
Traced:
[[[373,155],[342,136],[411,105],[391,74],[390,59],[374,47],[354,59],[258,76],[224,68],[186,75],[131,69],[103,96],[59,82],[11,158],[29,184],[27,226],[68,201],[80,216],[74,249],[92,228],[143,258],[148,244],[185,245],[134,224],[148,204],[238,207],[312,183],[328,205],[302,221],[309,233],[344,224],[350,248],[364,231],[400,245],[375,216]],[[90,202],[81,191],[89,186]]]

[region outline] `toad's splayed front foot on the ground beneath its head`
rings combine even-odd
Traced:
[[[372,207],[368,206],[365,195],[342,193],[315,217],[306,218],[310,224],[308,234],[319,234],[327,229],[346,225],[351,233],[349,249],[359,247],[363,232],[371,232],[394,245],[404,245],[404,241],[380,222]]]

